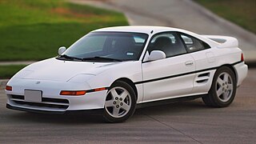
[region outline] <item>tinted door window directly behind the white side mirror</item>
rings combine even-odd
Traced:
[[[162,50],[166,57],[178,54],[185,54],[186,48],[176,33],[157,34],[150,41],[149,52],[152,50]]]

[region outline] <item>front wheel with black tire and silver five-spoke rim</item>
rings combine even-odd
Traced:
[[[106,95],[103,118],[106,122],[124,122],[134,114],[136,94],[126,82],[117,81]]]

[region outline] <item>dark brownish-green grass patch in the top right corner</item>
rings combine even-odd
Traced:
[[[255,0],[194,0],[222,18],[256,34]]]

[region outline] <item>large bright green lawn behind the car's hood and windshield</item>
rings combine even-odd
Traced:
[[[121,13],[64,0],[0,0],[0,61],[54,57],[91,30],[123,25]]]

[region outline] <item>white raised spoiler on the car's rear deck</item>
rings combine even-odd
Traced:
[[[215,42],[218,42],[218,48],[226,47],[238,47],[238,39],[234,37],[222,36],[222,35],[202,35],[205,38],[209,38]]]

